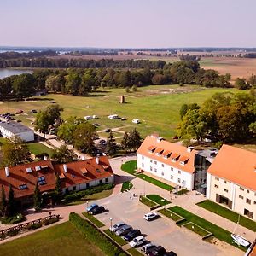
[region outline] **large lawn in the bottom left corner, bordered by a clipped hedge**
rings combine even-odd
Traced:
[[[69,222],[0,245],[4,256],[70,256],[74,252],[76,256],[104,255]]]

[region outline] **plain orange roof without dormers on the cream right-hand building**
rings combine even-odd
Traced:
[[[207,172],[256,191],[255,164],[255,153],[223,145]]]

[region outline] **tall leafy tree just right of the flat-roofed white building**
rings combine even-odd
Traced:
[[[47,108],[39,111],[34,122],[35,130],[40,131],[44,134],[49,130],[49,125],[55,125],[56,120],[60,120],[61,117],[61,108],[58,104],[49,105]]]

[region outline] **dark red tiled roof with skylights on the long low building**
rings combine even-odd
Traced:
[[[108,157],[106,156],[99,158],[99,164],[96,163],[95,158],[92,158],[67,163],[66,165],[67,172],[64,172],[63,165],[53,165],[51,160],[11,166],[9,167],[8,177],[6,176],[5,168],[2,168],[0,169],[0,188],[3,184],[5,195],[7,196],[9,193],[9,184],[11,184],[15,192],[15,198],[21,198],[27,195],[33,195],[38,177],[44,176],[46,183],[39,185],[39,189],[41,192],[46,192],[55,189],[55,173],[58,173],[61,178],[62,188],[79,183],[88,183],[94,179],[102,179],[113,175]],[[20,185],[25,184],[26,189],[19,188]]]

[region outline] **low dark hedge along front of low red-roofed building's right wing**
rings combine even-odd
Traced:
[[[103,190],[113,189],[113,187],[114,187],[113,183],[108,183],[108,184],[98,185],[96,187],[90,187],[89,189],[84,189],[84,190],[78,191],[78,192],[70,192],[69,194],[64,196],[64,200],[65,201],[79,200],[86,195],[100,193]]]

